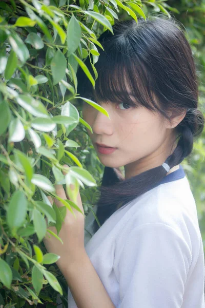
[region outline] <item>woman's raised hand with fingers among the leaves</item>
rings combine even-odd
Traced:
[[[68,166],[64,165],[64,167]],[[63,185],[55,185],[55,188],[58,197],[65,200],[66,199],[71,200],[69,196],[66,195]],[[48,198],[49,201],[53,204],[53,199],[50,196]],[[54,199],[54,202],[58,207],[64,206],[57,199]],[[79,191],[77,196],[77,206],[84,213],[84,208],[81,202]],[[85,253],[85,246],[84,246],[85,216],[83,216],[75,208],[72,209],[76,218],[67,209],[65,220],[62,223],[61,230],[58,234],[58,236],[63,241],[63,244],[49,233],[47,233],[46,237],[44,238],[44,244],[48,252],[60,256],[56,264],[58,265],[62,273],[64,272],[65,268],[67,268],[67,266],[71,266],[73,262],[76,262],[77,260],[80,259],[80,255],[82,253]],[[49,227],[48,229],[52,230],[52,232],[57,234],[55,227]]]

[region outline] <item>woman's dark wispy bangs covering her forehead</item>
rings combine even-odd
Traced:
[[[87,60],[88,63],[86,63]],[[85,64],[94,78],[89,59],[86,59],[86,62]],[[84,74],[84,78],[81,78],[78,72],[81,83],[78,87],[80,96],[90,98],[95,102],[123,102],[135,107],[144,106],[153,111],[159,108],[153,99],[152,77],[143,60],[139,59],[137,54],[133,59],[118,49],[109,51],[109,57],[106,52],[101,52],[95,68],[98,73],[95,89],[87,76]],[[80,73],[83,71],[81,70]]]

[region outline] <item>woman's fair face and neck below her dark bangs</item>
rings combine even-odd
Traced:
[[[108,111],[110,119],[86,102],[83,118],[93,129],[93,133],[87,131],[101,163],[108,167],[125,166],[125,176],[129,178],[165,162],[171,154],[173,126],[142,106],[97,103]],[[101,153],[96,143],[116,149]]]

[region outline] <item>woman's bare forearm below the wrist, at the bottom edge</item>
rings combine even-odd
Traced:
[[[73,260],[59,267],[66,278],[77,307],[115,308],[86,251],[78,254],[78,257]],[[63,260],[61,260],[62,263]]]

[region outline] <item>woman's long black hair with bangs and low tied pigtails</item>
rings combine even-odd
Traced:
[[[165,161],[170,168],[182,162],[193,149],[194,137],[204,127],[204,117],[198,107],[198,80],[191,47],[186,35],[173,17],[150,15],[145,21],[118,21],[114,35],[105,31],[98,41],[104,51],[95,68],[98,72],[95,90],[83,70],[77,71],[78,93],[99,101],[126,102],[136,105],[125,88],[125,76],[137,98],[137,104],[157,111],[170,120],[168,111],[185,118],[175,127],[176,148]],[[93,77],[89,57],[85,61]],[[105,167],[99,187],[97,218],[102,225],[120,206],[152,189],[167,171],[157,166],[129,179],[123,179],[119,169]],[[93,231],[99,228],[96,220]]]

